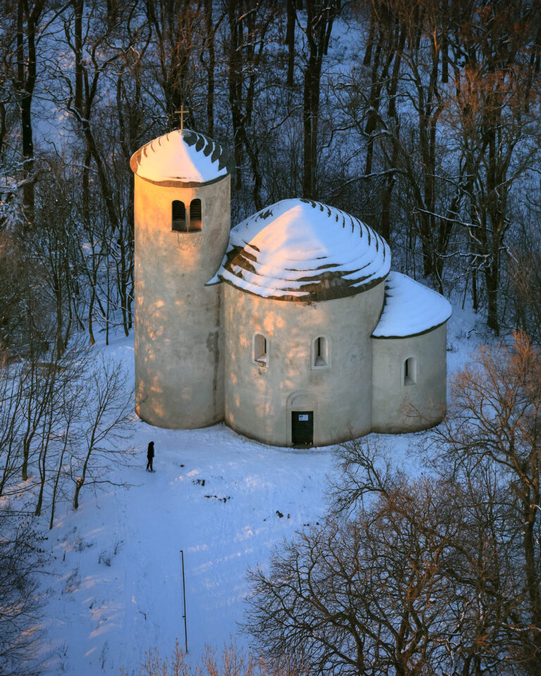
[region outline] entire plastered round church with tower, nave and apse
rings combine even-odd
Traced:
[[[359,219],[286,199],[230,229],[225,153],[175,130],[135,173],[135,389],[151,425],[225,421],[277,446],[440,422],[440,294],[391,271]]]

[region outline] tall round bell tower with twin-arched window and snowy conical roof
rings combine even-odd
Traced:
[[[223,420],[220,267],[230,175],[213,140],[175,130],[135,153],[135,407],[158,427]]]

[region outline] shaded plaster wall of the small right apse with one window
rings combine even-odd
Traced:
[[[443,420],[447,405],[447,325],[414,337],[372,339],[373,431],[415,432]],[[416,382],[404,361],[416,359]]]

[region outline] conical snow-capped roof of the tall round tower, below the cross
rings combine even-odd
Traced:
[[[209,183],[228,173],[223,148],[192,130],[174,130],[154,139],[132,155],[130,167],[154,183]]]

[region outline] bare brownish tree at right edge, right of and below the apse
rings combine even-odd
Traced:
[[[490,475],[493,503],[510,548],[517,608],[504,618],[516,658],[537,673],[541,650],[541,358],[523,332],[514,344],[483,348],[451,382],[447,420],[433,440],[444,471],[469,483]],[[486,483],[486,482],[485,482]],[[519,590],[523,590],[521,593]],[[502,601],[506,590],[501,589]],[[506,599],[511,605],[511,600]]]

